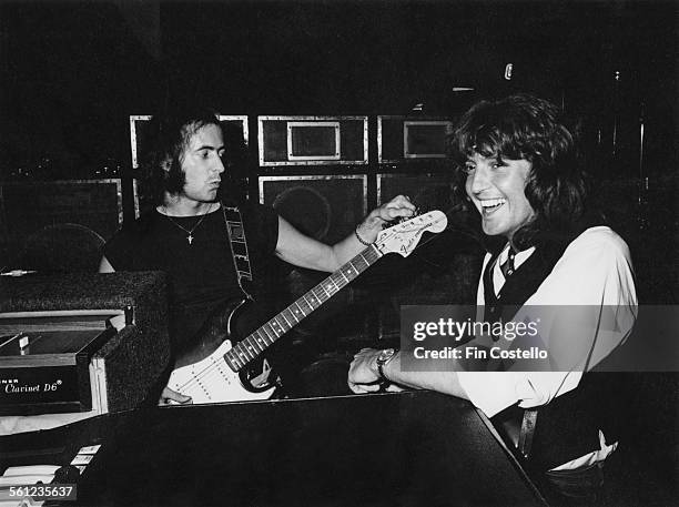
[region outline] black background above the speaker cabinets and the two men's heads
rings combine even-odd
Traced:
[[[36,171],[41,161],[67,176],[107,161],[124,169],[126,116],[170,97],[201,97],[224,114],[398,114],[416,102],[450,114],[511,89],[586,112],[605,143],[617,113],[630,149],[643,103],[648,169],[667,172],[676,161],[675,2],[38,1],[0,9],[3,174]],[[511,81],[503,79],[508,62]]]

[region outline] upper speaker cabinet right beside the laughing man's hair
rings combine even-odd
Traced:
[[[445,159],[453,122],[445,119],[377,116],[377,161]]]

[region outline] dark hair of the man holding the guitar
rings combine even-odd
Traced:
[[[143,155],[142,179],[153,204],[162,204],[165,192],[175,195],[183,190],[184,152],[192,135],[205,125],[221,128],[217,113],[203,107],[181,108],[151,119],[151,149]]]

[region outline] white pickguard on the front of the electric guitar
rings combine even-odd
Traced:
[[[234,373],[224,361],[224,354],[231,349],[226,339],[204,359],[176,368],[170,375],[168,387],[191,396],[196,403],[253,402],[271,398],[274,387],[261,393],[252,393],[243,387],[239,374]]]

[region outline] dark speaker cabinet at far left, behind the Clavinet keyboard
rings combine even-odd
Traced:
[[[0,204],[3,265],[26,270],[97,271],[122,223],[118,179],[6,182]]]

